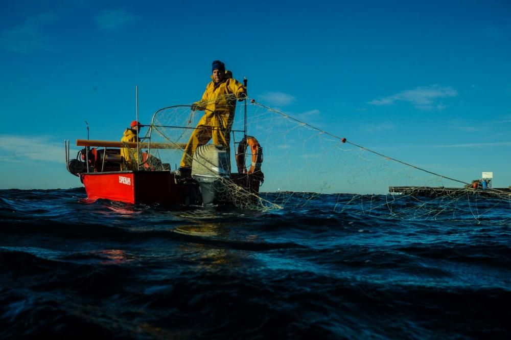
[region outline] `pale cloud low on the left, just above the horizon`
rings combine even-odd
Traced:
[[[72,157],[77,151],[70,151]],[[4,163],[43,161],[65,164],[64,143],[51,142],[44,136],[0,134],[0,159]]]

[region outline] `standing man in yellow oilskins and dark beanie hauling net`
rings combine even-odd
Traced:
[[[247,98],[247,89],[233,78],[230,71],[225,71],[225,64],[213,61],[213,81],[207,84],[202,99],[192,105],[192,110],[205,111],[190,140],[184,149],[179,172],[182,176],[191,174],[193,154],[197,147],[207,144],[222,145],[230,155],[230,130],[233,126],[236,100]]]

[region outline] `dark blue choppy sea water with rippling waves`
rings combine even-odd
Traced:
[[[329,195],[269,212],[84,197],[0,190],[0,338],[511,338],[509,207],[410,221]]]

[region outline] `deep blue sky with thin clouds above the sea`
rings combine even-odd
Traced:
[[[198,100],[211,62],[358,144],[511,185],[508,1],[17,1],[0,13],[0,188],[80,186],[63,141]],[[75,150],[77,148],[75,147]],[[73,151],[73,150],[72,150]]]

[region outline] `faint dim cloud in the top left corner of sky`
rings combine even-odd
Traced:
[[[0,32],[0,47],[18,53],[50,50],[50,43],[43,35],[43,26],[55,21],[53,13],[28,17],[22,24]]]

